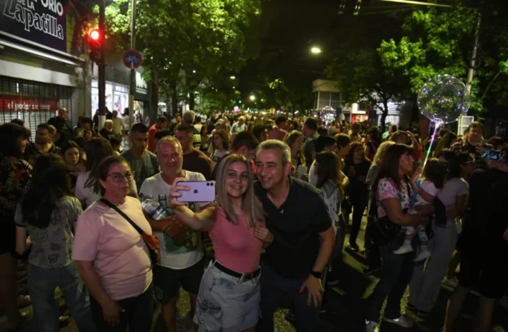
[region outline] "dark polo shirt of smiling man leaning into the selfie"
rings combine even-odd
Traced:
[[[267,213],[267,228],[274,234],[274,242],[266,248],[264,263],[284,278],[306,278],[320,248],[319,233],[331,227],[320,191],[290,177],[290,192],[277,208],[260,182],[255,182],[254,190]]]

